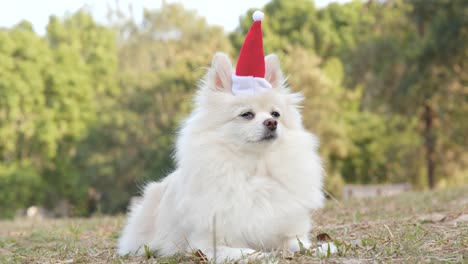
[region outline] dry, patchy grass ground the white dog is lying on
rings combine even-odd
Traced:
[[[329,201],[314,213],[314,243],[328,234],[338,253],[311,250],[279,263],[467,263],[468,186],[393,197]],[[169,259],[119,257],[124,217],[0,221],[0,263],[200,263],[200,252]],[[151,254],[151,253],[149,253]]]

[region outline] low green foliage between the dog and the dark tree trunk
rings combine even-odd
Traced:
[[[383,118],[367,111],[347,118],[352,147],[346,158],[337,161],[347,182],[417,184],[415,176],[422,161],[416,155],[421,142],[415,122],[408,124],[398,116]]]

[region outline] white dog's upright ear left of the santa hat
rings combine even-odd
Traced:
[[[229,57],[221,52],[217,52],[211,61],[211,78],[214,86],[220,91],[231,91],[232,86],[232,63]]]

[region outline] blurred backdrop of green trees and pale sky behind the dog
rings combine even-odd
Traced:
[[[178,123],[256,9],[265,53],[305,94],[326,191],[468,183],[468,1],[0,4],[0,217],[124,212],[173,168]],[[406,188],[406,187],[405,187]],[[36,208],[36,209],[37,209]]]

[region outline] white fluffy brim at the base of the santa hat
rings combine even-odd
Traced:
[[[258,94],[271,89],[271,84],[264,78],[253,76],[232,75],[232,93],[238,94]]]

